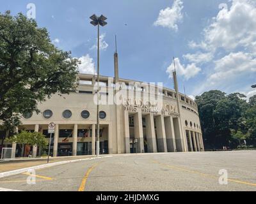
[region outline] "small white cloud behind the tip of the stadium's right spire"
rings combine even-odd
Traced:
[[[201,69],[198,68],[195,63],[188,64],[187,66],[184,66],[180,63],[179,58],[175,59],[175,65],[176,65],[176,71],[178,75],[182,75],[185,77],[186,80],[189,80],[189,78],[195,77]],[[174,71],[174,64],[172,64],[167,68],[166,73],[168,73],[169,77],[172,77],[172,72]]]

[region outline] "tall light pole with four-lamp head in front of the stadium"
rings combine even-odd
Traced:
[[[100,84],[100,25],[103,27],[104,25],[107,25],[108,23],[105,21],[108,18],[104,17],[104,15],[100,15],[100,17],[97,17],[97,15],[93,14],[92,17],[90,17],[91,24],[94,26],[98,25],[98,48],[97,48],[97,145],[96,145],[96,152],[97,157],[100,155],[100,119],[99,119],[99,84]],[[92,144],[94,145],[94,144]]]

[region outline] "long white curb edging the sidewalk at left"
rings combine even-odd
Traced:
[[[47,168],[47,167],[51,167],[51,166],[58,166],[58,165],[61,165],[61,164],[75,163],[75,162],[78,162],[78,161],[87,161],[87,160],[93,160],[93,159],[102,159],[102,158],[107,158],[107,157],[113,157],[113,156],[92,157],[92,158],[76,159],[76,160],[70,160],[70,161],[58,161],[56,163],[42,164],[42,165],[39,165],[39,166],[31,166],[31,167],[28,167],[28,168],[22,168],[20,170],[6,171],[6,172],[3,172],[3,173],[0,173],[0,179],[4,178],[4,177],[10,177],[12,175],[17,175],[17,174],[20,174],[20,173],[24,173],[28,170],[38,170],[38,169],[41,169],[41,168]]]

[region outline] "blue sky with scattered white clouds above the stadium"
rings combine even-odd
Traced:
[[[81,57],[81,71],[92,73],[97,60],[97,29],[89,17],[108,17],[100,28],[100,74],[113,76],[115,34],[120,77],[163,82],[173,88],[175,57],[180,92],[196,96],[220,89],[256,94],[256,5],[252,0],[0,0],[0,11],[26,14],[36,6],[36,21],[53,43]]]

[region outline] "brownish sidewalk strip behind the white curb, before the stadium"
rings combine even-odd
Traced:
[[[71,161],[75,159],[86,159],[95,156],[76,156],[76,157],[52,157],[49,163],[56,163],[58,161]],[[38,166],[47,164],[47,158],[31,158],[31,159],[13,159],[9,161],[0,161],[0,173],[5,171],[19,170],[22,168],[29,168],[31,166]]]

